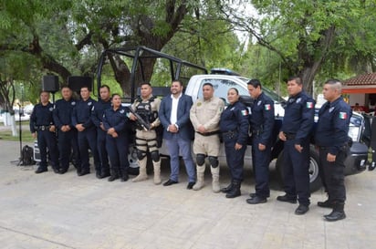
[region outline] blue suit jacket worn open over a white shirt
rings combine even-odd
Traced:
[[[193,105],[192,98],[188,95],[182,94],[178,102],[178,113],[176,124],[179,126],[179,131],[176,133],[183,140],[193,139],[193,126],[189,119],[190,109]],[[172,110],[171,95],[162,99],[161,107],[159,110],[159,118],[163,126],[163,138],[166,140],[172,139],[173,133],[167,131],[170,125],[170,117]]]

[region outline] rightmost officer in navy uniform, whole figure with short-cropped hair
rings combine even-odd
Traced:
[[[350,106],[340,96],[342,84],[338,79],[329,79],[323,88],[328,100],[319,110],[319,122],[315,135],[319,146],[321,181],[329,194],[328,200],[318,202],[319,207],[332,208],[324,218],[329,222],[346,218],[344,205],[346,189],[344,184],[344,161],[349,150]]]

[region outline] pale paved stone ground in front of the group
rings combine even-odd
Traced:
[[[152,177],[137,183],[78,177],[72,168],[37,175],[35,167],[10,162],[18,148],[0,140],[1,248],[376,248],[376,171],[346,178],[348,218],[328,223],[322,215],[330,210],[316,205],[323,192],[312,194],[306,215],[295,215],[296,204],[276,201],[283,192],[273,173],[268,202],[249,205],[248,170],[242,196],[229,200],[211,191],[209,171],[198,192],[185,189],[183,168],[181,182],[169,187],[155,186]],[[225,185],[228,171],[221,170]],[[168,175],[166,165],[162,180]]]

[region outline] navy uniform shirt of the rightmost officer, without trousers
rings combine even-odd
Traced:
[[[329,153],[337,155],[340,147],[349,141],[350,106],[340,97],[332,103],[326,102],[319,109],[319,122],[315,142],[329,147]]]

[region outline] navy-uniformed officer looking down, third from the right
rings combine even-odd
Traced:
[[[252,132],[252,165],[256,192],[251,193],[251,199],[246,202],[258,204],[266,202],[266,198],[270,196],[269,162],[274,127],[274,101],[264,94],[261,83],[256,78],[247,83],[247,88],[254,99],[249,123]]]

